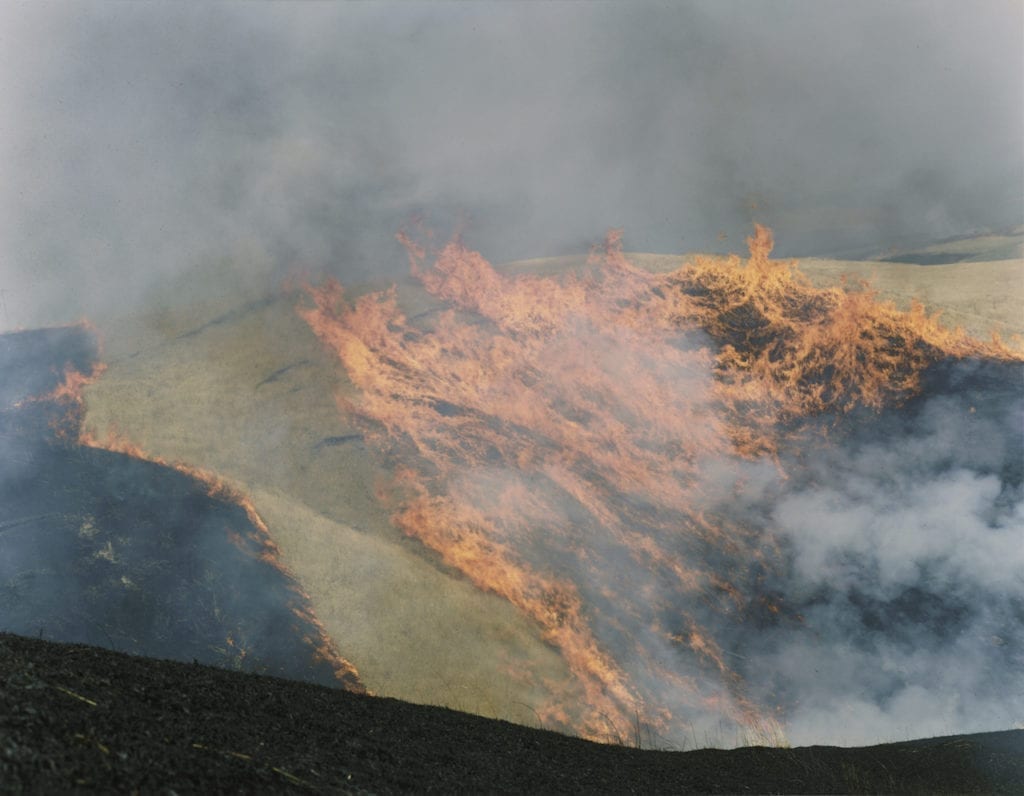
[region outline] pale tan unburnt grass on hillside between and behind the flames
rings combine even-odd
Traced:
[[[629,259],[654,273],[685,261]],[[586,267],[581,256],[502,270]],[[920,296],[949,320],[973,319],[978,334],[1024,332],[1015,311],[1024,305],[1020,260],[811,260],[801,268],[818,285],[873,277],[884,296],[903,304]],[[397,300],[423,328],[441,307],[412,280],[398,284]],[[108,370],[85,392],[86,427],[215,471],[249,494],[328,633],[374,693],[536,723],[552,685],[569,681],[563,660],[529,619],[392,526],[377,499],[391,474],[345,404],[354,387],[296,312],[304,301],[284,293],[238,306],[188,305],[135,319],[131,333],[112,324]]]

